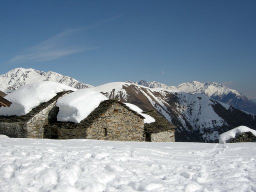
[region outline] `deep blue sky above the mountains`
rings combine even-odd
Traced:
[[[255,0],[2,0],[0,74],[215,81],[256,98]]]

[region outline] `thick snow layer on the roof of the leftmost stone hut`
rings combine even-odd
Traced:
[[[1,107],[0,115],[24,115],[42,102],[47,102],[57,92],[76,90],[65,84],[43,81],[26,84],[4,98],[12,102],[10,107]]]

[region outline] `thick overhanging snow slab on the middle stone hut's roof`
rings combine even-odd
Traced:
[[[71,92],[59,98],[56,102],[56,106],[59,107],[57,120],[79,123],[97,108],[101,101],[107,99],[100,92],[90,88]]]

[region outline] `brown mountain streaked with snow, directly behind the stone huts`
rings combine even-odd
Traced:
[[[256,128],[255,115],[218,102],[204,94],[190,94],[179,90],[112,82],[90,89],[108,98],[137,105],[143,110],[156,109],[177,126],[177,141],[217,141],[218,134],[238,125]]]

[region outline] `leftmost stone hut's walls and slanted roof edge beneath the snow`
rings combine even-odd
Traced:
[[[55,106],[57,99],[66,93],[57,93],[52,99],[33,108],[30,112],[21,116],[0,115],[0,134],[9,137],[43,138],[44,125],[48,124],[49,111]]]

